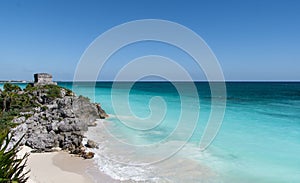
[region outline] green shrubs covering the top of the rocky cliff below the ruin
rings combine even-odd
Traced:
[[[32,111],[35,107],[42,107],[43,104],[56,98],[72,96],[73,92],[69,89],[57,85],[32,86],[28,84],[22,90],[19,86],[5,83],[3,91],[0,92],[0,133],[15,127],[12,120],[20,112]],[[27,116],[29,117],[29,116]]]

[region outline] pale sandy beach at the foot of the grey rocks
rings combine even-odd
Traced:
[[[30,153],[32,149],[22,146],[19,156]],[[30,153],[26,164],[28,183],[105,183],[118,182],[100,172],[94,160],[85,160],[67,152]]]

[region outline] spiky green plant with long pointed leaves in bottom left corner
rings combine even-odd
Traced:
[[[29,170],[25,172],[27,158],[26,153],[23,157],[18,158],[20,142],[23,137],[12,147],[9,144],[12,140],[13,134],[7,130],[0,134],[0,182],[7,183],[23,183],[26,182]]]

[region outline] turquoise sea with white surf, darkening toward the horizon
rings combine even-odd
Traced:
[[[212,108],[208,83],[195,83],[197,98],[168,82],[114,89],[110,82],[59,85],[90,97],[110,115],[87,136],[100,144],[99,169],[115,179],[300,182],[300,83],[227,82],[222,126],[204,151],[199,142]]]

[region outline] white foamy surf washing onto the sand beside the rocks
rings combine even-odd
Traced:
[[[91,149],[95,153],[95,163],[99,170],[111,178],[120,181],[129,182],[163,182],[155,175],[154,168],[146,166],[134,166],[135,160],[132,151],[124,149],[118,144],[112,144],[114,141],[111,136],[105,134],[104,127],[98,125],[89,129],[86,134],[88,139],[92,139],[99,144],[98,149]],[[110,148],[108,148],[110,147]],[[114,148],[115,147],[115,148]],[[116,160],[122,160],[120,163]]]

